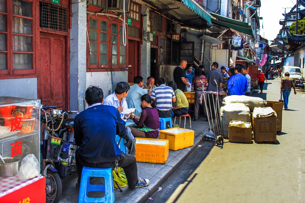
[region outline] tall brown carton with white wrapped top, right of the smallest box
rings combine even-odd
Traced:
[[[253,110],[253,133],[256,143],[276,143],[277,117],[271,107]]]

